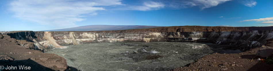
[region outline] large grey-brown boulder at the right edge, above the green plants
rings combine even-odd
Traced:
[[[273,47],[263,45],[256,53],[260,57],[270,57],[273,52]]]

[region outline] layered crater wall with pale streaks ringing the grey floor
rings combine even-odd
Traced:
[[[103,42],[207,42],[235,45],[241,51],[260,47],[273,37],[272,27],[172,26],[115,31],[19,31],[5,33],[12,38],[32,41],[36,50],[48,51],[62,45]],[[196,32],[197,31],[197,32]]]

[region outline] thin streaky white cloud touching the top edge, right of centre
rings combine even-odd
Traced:
[[[183,0],[183,1],[171,0],[169,1],[169,6],[178,9],[199,6],[201,10],[203,10],[205,8],[214,7],[227,1],[231,0]]]

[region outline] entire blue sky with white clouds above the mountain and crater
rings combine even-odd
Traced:
[[[0,0],[0,31],[86,25],[273,26],[272,0]]]

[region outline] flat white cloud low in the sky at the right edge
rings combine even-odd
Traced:
[[[240,22],[251,22],[251,21],[261,22],[261,21],[264,21],[264,22],[261,22],[260,24],[269,24],[269,23],[273,23],[272,20],[273,20],[273,17],[272,18],[260,18],[260,19],[243,20],[243,21],[240,21]]]

